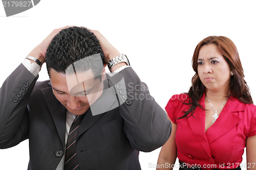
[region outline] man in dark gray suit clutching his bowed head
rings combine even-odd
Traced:
[[[36,83],[45,60],[50,81]],[[29,139],[28,169],[141,169],[171,125],[127,65],[98,31],[54,30],[0,89],[0,147]]]

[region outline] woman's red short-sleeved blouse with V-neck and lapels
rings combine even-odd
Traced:
[[[199,101],[205,108],[204,96]],[[203,169],[236,168],[242,162],[246,138],[256,135],[256,106],[229,98],[216,122],[205,132],[205,110],[197,107],[193,116],[181,118],[187,94],[173,95],[165,107],[177,124],[175,141],[178,158]]]

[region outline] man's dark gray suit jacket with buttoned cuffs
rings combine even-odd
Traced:
[[[102,114],[92,115],[88,110],[76,143],[80,169],[141,169],[139,151],[151,152],[161,147],[170,135],[165,112],[154,98],[148,98],[146,85],[133,69],[125,68],[120,74],[128,95],[136,93],[147,98],[130,96],[132,103],[119,101],[119,107]],[[0,148],[29,139],[28,169],[55,169],[65,152],[66,108],[55,98],[49,81],[36,83],[37,78],[20,64],[1,87]],[[104,87],[111,87],[118,80],[109,77]],[[98,101],[111,107],[117,98],[106,96],[102,94]]]

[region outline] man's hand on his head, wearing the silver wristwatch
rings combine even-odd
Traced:
[[[90,29],[89,29],[90,30]],[[116,48],[111,45],[109,43],[108,40],[106,40],[106,38],[100,34],[99,31],[97,30],[90,30],[99,40],[100,46],[102,48],[102,51],[104,53],[105,56],[105,62],[108,63],[111,59],[117,57],[118,55],[120,55],[120,53],[116,50]],[[113,68],[112,68],[112,72],[114,72],[116,69],[120,68],[121,66],[126,65],[125,63],[119,63],[116,64]],[[106,66],[106,65],[104,65]]]

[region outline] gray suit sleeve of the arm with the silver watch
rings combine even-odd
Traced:
[[[124,85],[120,83],[121,79]],[[133,148],[151,152],[161,147],[168,140],[172,125],[150,95],[147,85],[140,81],[131,67],[111,77],[110,82],[115,86],[124,119],[124,132]]]

